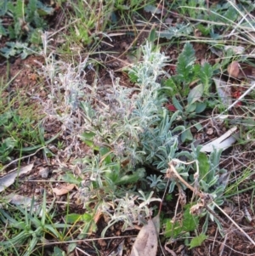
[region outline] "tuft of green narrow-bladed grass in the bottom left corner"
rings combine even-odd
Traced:
[[[55,213],[50,213],[53,206],[54,202],[47,208],[44,192],[42,205],[39,207],[32,199],[31,205],[25,208],[17,206],[16,209],[9,208],[8,211],[0,209],[0,221],[6,227],[5,241],[0,242],[0,252],[8,248],[9,251],[14,252],[14,255],[21,255],[20,249],[23,251],[25,247],[26,250],[22,256],[30,256],[36,251],[43,255],[46,236],[52,236],[59,242],[63,241],[65,238],[63,230],[70,225],[54,223]],[[15,211],[17,213],[14,214]],[[42,246],[38,246],[38,243]]]

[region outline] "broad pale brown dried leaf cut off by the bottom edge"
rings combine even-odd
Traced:
[[[156,256],[157,231],[152,219],[139,231],[130,256]]]

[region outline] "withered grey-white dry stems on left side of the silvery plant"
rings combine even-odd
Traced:
[[[42,104],[42,110],[45,113],[43,119],[44,125],[54,125],[60,123],[61,131],[59,134],[64,135],[67,147],[65,152],[70,156],[72,153],[78,153],[78,135],[82,130],[82,118],[80,114],[81,100],[85,97],[85,90],[88,88],[85,79],[85,67],[88,65],[88,58],[77,61],[77,64],[71,62],[56,60],[54,51],[48,54],[50,48],[50,39],[48,32],[42,33],[42,56],[44,64],[39,63],[42,68],[39,74],[45,77],[48,85],[47,99],[39,100]]]

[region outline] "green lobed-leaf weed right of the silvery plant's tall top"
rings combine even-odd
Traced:
[[[164,82],[165,93],[184,123],[206,110],[207,103],[203,99],[210,94],[212,73],[210,64],[195,64],[195,50],[191,43],[185,43],[182,53],[178,55],[176,75]],[[194,88],[190,88],[192,83],[196,84]],[[185,123],[182,141],[193,139],[190,133],[193,124]]]

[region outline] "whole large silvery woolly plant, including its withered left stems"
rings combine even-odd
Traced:
[[[110,205],[101,208],[110,216],[109,225],[122,220],[127,227],[137,221],[130,216],[148,217],[147,208],[139,207],[143,200],[136,197],[137,181],[150,182],[151,187],[160,190],[166,183],[155,175],[144,179],[144,167],[156,168],[164,174],[173,158],[185,156],[194,160],[195,156],[192,152],[178,152],[178,136],[185,128],[174,124],[178,111],[170,117],[164,107],[167,99],[159,94],[158,79],[165,75],[167,57],[146,43],[142,46],[144,59],[129,69],[129,75],[136,80],[133,88],[123,87],[113,74],[111,84],[88,84],[88,59],[81,59],[77,65],[55,60],[53,54],[46,53],[47,40],[44,34],[46,64],[42,65],[42,75],[47,78],[50,93],[42,104],[47,118],[61,122],[63,132],[73,138],[70,151],[77,151],[81,143],[91,149],[87,156],[76,160],[81,178],[86,180],[80,187],[84,206],[91,198],[99,205]],[[177,170],[188,179],[189,168],[179,165]],[[125,187],[119,189],[121,185]],[[169,193],[175,185],[173,179]],[[137,198],[132,208],[127,207],[130,198]]]

